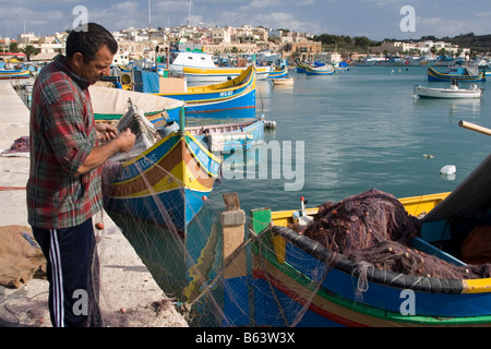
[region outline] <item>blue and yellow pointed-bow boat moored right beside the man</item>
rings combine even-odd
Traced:
[[[182,127],[157,132],[130,103],[118,130],[137,135],[129,153],[109,159],[103,170],[105,208],[140,221],[187,231],[218,178],[220,160]]]

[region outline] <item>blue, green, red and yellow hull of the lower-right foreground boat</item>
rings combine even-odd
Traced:
[[[408,197],[400,202],[408,213],[419,215],[431,212],[448,195]],[[336,256],[322,244],[287,228],[286,225],[292,221],[292,213],[267,209],[253,213],[253,221],[261,232],[258,245],[253,248],[258,261],[255,266],[253,264],[254,287],[276,290],[275,293],[256,292],[264,297],[255,300],[258,304],[267,303],[274,308],[264,312],[261,308],[255,310],[258,325],[491,325],[491,279],[436,279],[371,268],[367,279],[360,280],[354,262]],[[307,214],[315,215],[316,209]],[[262,230],[272,222],[273,228]],[[428,248],[420,239],[414,240],[412,245]],[[335,257],[339,258],[336,266],[325,262]],[[364,281],[360,297],[357,285]],[[404,311],[408,297],[415,300],[414,313]]]

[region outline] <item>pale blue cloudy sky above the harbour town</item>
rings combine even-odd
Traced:
[[[372,40],[491,34],[488,0],[0,0],[0,37],[14,39],[24,32],[51,35],[72,29],[85,17],[110,31],[189,22]]]

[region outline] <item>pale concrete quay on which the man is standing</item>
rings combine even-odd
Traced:
[[[29,134],[29,111],[10,81],[0,81],[0,149]],[[0,156],[0,226],[27,224],[27,157]],[[121,230],[104,215],[99,233],[100,309],[111,327],[188,327]],[[1,273],[1,270],[0,270]],[[17,289],[0,286],[1,327],[50,327],[48,281],[31,279]]]

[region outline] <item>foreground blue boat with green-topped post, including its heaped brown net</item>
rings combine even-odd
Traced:
[[[275,289],[268,297],[258,291],[264,298],[256,302],[277,301],[258,325],[490,326],[490,172],[491,156],[452,193],[396,203],[368,191],[314,209],[253,212],[260,261],[253,273],[263,291]],[[378,216],[383,196],[386,207],[404,210]],[[298,229],[301,217],[310,225]],[[382,231],[368,217],[386,224],[399,217],[393,227],[402,234],[367,244]],[[333,248],[342,242],[344,250]],[[347,248],[357,242],[360,249]]]

